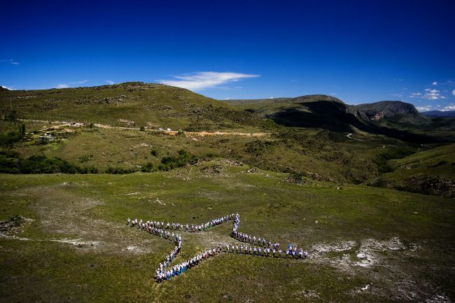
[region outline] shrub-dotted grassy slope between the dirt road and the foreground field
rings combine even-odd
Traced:
[[[141,170],[154,169],[163,157],[186,150],[199,159],[223,157],[246,162],[261,169],[304,173],[318,180],[361,183],[383,172],[386,160],[403,157],[428,147],[403,143],[386,136],[323,131],[321,129],[280,129],[271,133],[245,136],[232,132],[203,136],[204,132],[169,134],[145,129],[71,127],[62,123],[3,121],[5,129],[18,129],[27,136],[3,150],[26,158],[32,155],[59,157],[79,167]],[[52,142],[38,141],[50,132]],[[33,134],[31,134],[33,133]],[[404,151],[402,154],[400,151]],[[378,160],[378,155],[388,155]]]

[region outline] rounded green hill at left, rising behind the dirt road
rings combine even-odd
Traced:
[[[12,104],[12,109],[11,109]],[[172,129],[265,127],[250,113],[190,90],[140,82],[52,90],[2,91],[0,112],[18,118]]]

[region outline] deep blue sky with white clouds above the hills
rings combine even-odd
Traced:
[[[0,85],[141,80],[455,110],[454,1],[96,2],[2,1]]]

